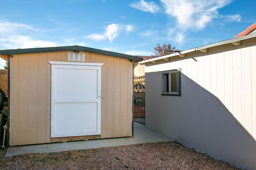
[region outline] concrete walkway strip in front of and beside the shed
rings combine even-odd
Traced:
[[[102,147],[113,147],[122,145],[134,145],[139,143],[165,142],[173,141],[163,134],[157,133],[145,126],[134,123],[134,137],[129,138],[113,138],[113,139],[96,139],[88,141],[72,141],[65,143],[49,143],[42,145],[27,145],[10,147],[7,149],[5,157],[22,155],[28,153],[50,153],[67,150],[94,149]]]

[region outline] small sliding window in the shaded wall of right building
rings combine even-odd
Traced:
[[[164,71],[162,72],[162,77],[162,95],[180,96],[180,71]]]

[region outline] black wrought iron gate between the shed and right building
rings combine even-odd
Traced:
[[[133,90],[133,121],[145,125],[145,87],[135,84]]]

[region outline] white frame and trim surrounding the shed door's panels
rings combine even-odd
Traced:
[[[62,99],[55,99],[55,69],[56,68],[72,68],[81,66],[81,68],[88,68],[98,70],[98,92],[97,92],[97,132],[86,132],[86,133],[73,133],[73,134],[61,134],[65,137],[75,137],[75,136],[86,136],[86,135],[100,135],[101,134],[101,66],[103,63],[77,63],[77,62],[53,62],[49,61],[51,64],[51,138],[59,138],[59,134],[55,134],[54,129],[54,113],[55,113],[55,103],[61,103]],[[78,102],[82,102],[81,101]],[[81,135],[82,134],[82,135]],[[61,136],[63,137],[63,136]]]

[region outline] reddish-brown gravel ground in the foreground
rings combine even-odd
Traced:
[[[0,158],[0,169],[237,169],[177,142],[25,154]]]

